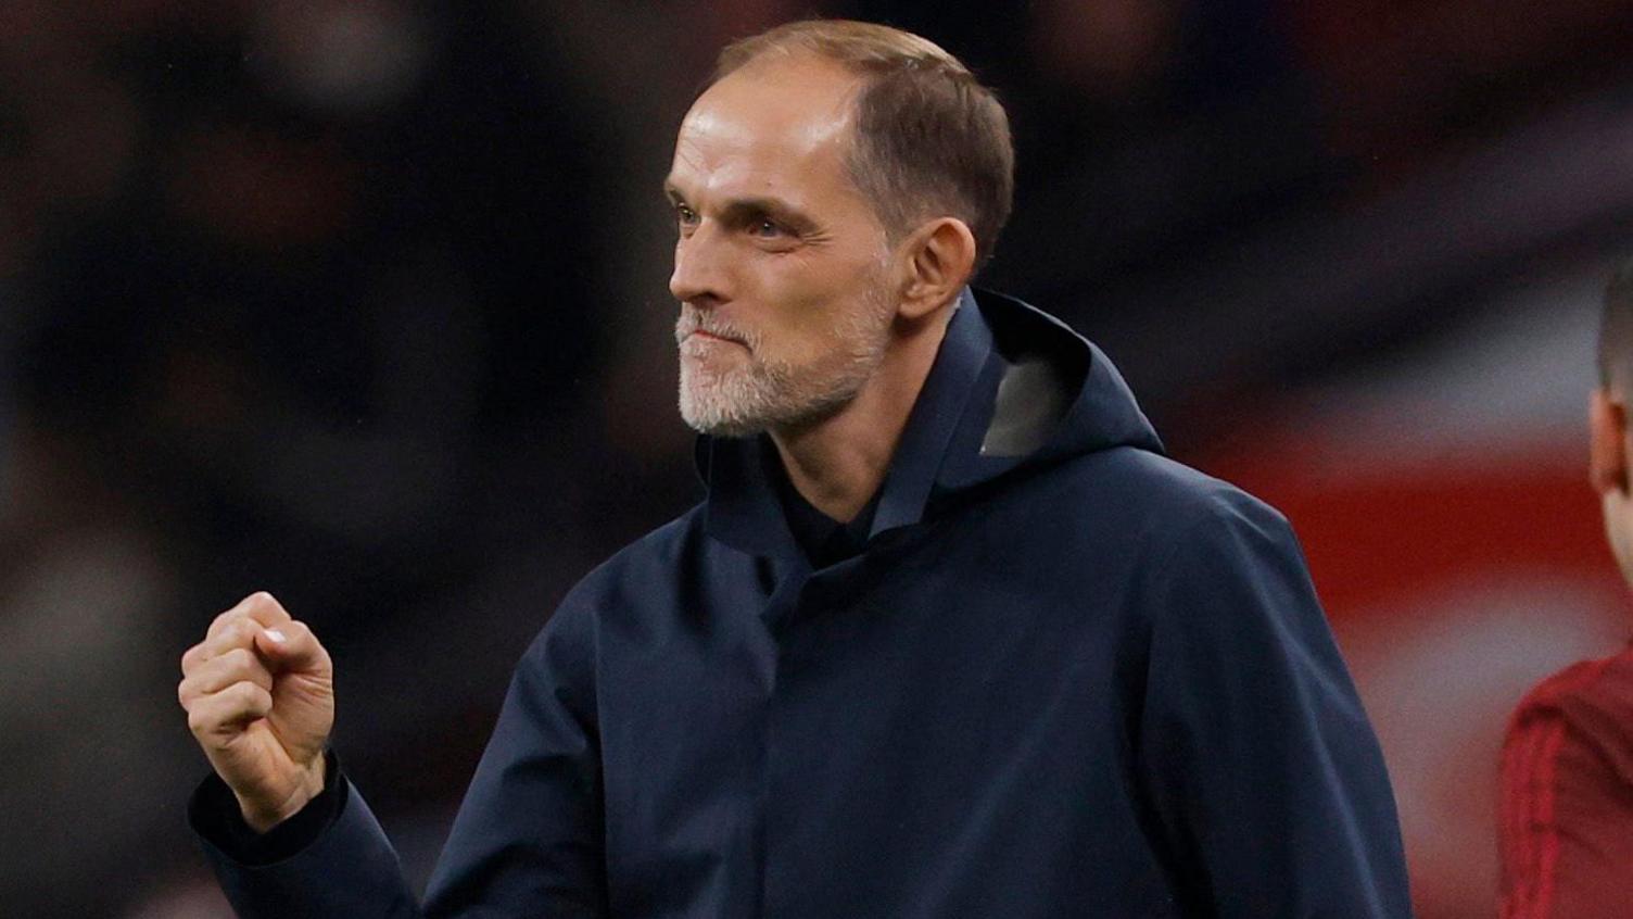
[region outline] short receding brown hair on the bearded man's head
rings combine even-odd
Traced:
[[[1014,199],[1009,116],[957,57],[913,33],[851,20],[803,20],[728,44],[714,82],[768,54],[815,54],[865,77],[856,96],[851,182],[885,229],[954,216],[975,235],[977,267]]]

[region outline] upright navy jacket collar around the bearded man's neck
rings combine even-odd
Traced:
[[[991,329],[965,288],[885,471],[869,538],[924,518],[954,435],[970,428],[960,420],[990,404],[978,394],[998,384],[1001,361],[994,358]],[[802,558],[777,500],[782,471],[769,437],[701,435],[696,458],[709,487],[704,520],[710,536],[754,556]]]

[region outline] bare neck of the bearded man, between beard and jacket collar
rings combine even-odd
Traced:
[[[941,309],[918,329],[898,329],[879,371],[838,412],[771,432],[789,482],[812,507],[841,523],[867,507],[885,481],[950,317],[952,309]]]

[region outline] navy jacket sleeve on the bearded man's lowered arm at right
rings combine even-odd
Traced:
[[[1138,755],[1187,916],[1411,916],[1383,755],[1287,522],[1220,495],[1153,569]]]

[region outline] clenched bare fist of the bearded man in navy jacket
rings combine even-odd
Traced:
[[[250,827],[266,832],[323,790],[335,666],[271,594],[216,616],[181,656],[181,674],[188,728]]]

